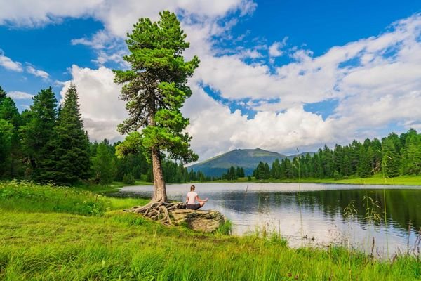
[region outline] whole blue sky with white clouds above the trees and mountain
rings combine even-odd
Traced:
[[[0,86],[25,110],[72,82],[91,141],[121,141],[114,69],[139,18],[178,15],[201,63],[182,112],[199,161],[421,131],[419,1],[0,0]]]

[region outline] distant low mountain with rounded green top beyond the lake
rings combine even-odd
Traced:
[[[242,167],[246,176],[253,174],[259,162],[272,165],[275,159],[279,161],[283,158],[290,157],[279,154],[278,152],[271,152],[267,150],[257,149],[236,149],[226,152],[222,155],[207,159],[203,162],[188,166],[187,169],[193,171],[201,171],[206,176],[222,176],[222,173],[227,173],[229,167]]]

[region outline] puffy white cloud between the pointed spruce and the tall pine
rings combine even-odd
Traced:
[[[64,98],[69,84],[76,85],[84,126],[91,140],[121,140],[123,136],[116,128],[126,119],[127,113],[125,103],[119,100],[121,86],[114,84],[112,70],[106,67],[91,70],[73,65],[71,74],[72,80],[65,82],[60,94]]]

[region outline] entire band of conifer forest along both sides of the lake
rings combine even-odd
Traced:
[[[116,157],[121,142],[88,141],[79,111],[76,86],[67,90],[61,104],[51,88],[34,96],[28,110],[18,112],[12,98],[0,88],[0,178],[36,182],[75,184],[79,181],[107,185],[112,181],[132,184],[153,181],[152,165],[142,151]],[[421,174],[421,134],[415,129],[397,135],[349,145],[326,145],[315,153],[293,159],[276,159],[258,164],[255,179],[366,178],[382,174],[387,178]],[[241,167],[230,167],[220,178],[192,171],[181,162],[163,159],[167,183],[236,180],[244,177]],[[250,178],[249,178],[250,180]]]

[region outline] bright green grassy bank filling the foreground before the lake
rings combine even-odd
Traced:
[[[290,249],[278,236],[203,235],[119,211],[145,200],[31,183],[0,183],[0,199],[0,280],[421,277],[415,257],[379,262],[336,247]],[[98,211],[87,207],[93,204]]]

